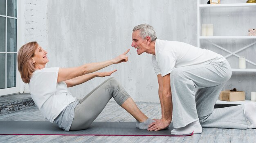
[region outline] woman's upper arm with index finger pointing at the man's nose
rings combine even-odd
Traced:
[[[103,69],[104,67],[108,67],[109,65],[112,65],[112,64],[127,62],[128,56],[126,56],[126,54],[129,52],[129,50],[130,49],[128,49],[123,54],[117,56],[116,58],[113,58],[108,61],[103,61],[99,63],[88,63],[85,65],[81,65],[79,67],[60,68],[58,71],[57,82],[62,82],[62,81],[70,80],[79,76],[83,76],[85,74],[90,74],[100,69]]]

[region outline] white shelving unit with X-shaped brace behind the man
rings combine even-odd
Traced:
[[[232,2],[232,1],[230,1]],[[248,7],[256,9],[256,3],[235,3],[235,4],[201,4],[201,0],[198,0],[198,6],[197,6],[197,11],[198,11],[198,48],[200,48],[200,41],[202,40],[207,40],[207,42],[211,43],[213,46],[215,46],[216,48],[220,48],[221,50],[224,50],[226,52],[228,52],[229,54],[225,56],[225,58],[229,57],[229,56],[236,56],[236,57],[240,57],[238,54],[238,52],[245,50],[246,48],[251,47],[252,45],[256,44],[256,36],[219,36],[219,35],[214,35],[214,36],[201,36],[201,11],[204,9],[225,9],[225,8],[239,8],[239,9],[247,9]],[[218,11],[216,12],[216,14],[218,13]],[[239,50],[236,50],[234,52],[231,52],[223,47],[221,47],[220,45],[217,45],[216,43],[213,43],[212,40],[213,39],[255,39],[255,41],[253,43],[250,43],[249,45],[246,45],[245,47],[240,48]],[[252,65],[256,66],[256,63],[254,63],[253,61],[249,61],[248,59],[246,59],[246,61],[248,63],[251,63]],[[232,69],[232,72],[256,72],[256,69]],[[226,101],[220,101],[218,100],[216,102],[216,104],[245,104],[248,102],[252,102],[250,100],[245,100],[245,101],[239,101],[239,102],[226,102]],[[256,104],[256,102],[255,102]]]

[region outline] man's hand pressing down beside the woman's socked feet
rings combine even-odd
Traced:
[[[153,120],[155,120],[155,122],[151,123],[148,126],[148,130],[150,131],[163,130],[171,124],[171,121],[167,121],[166,119],[153,119]]]

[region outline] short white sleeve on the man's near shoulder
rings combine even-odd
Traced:
[[[160,52],[158,55],[158,66],[161,71],[161,76],[165,76],[166,74],[170,74],[171,71],[175,68],[176,63],[176,55],[173,51],[164,50]]]

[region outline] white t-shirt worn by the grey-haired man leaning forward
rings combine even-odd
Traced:
[[[155,74],[161,74],[161,76],[170,74],[177,67],[221,61],[225,61],[225,58],[210,50],[183,42],[159,39],[155,41],[155,55],[152,56]]]

